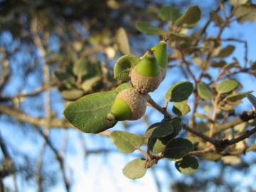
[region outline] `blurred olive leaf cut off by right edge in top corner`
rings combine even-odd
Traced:
[[[256,20],[256,5],[255,4],[249,4],[249,5],[242,5],[238,6],[237,9],[235,9],[235,16],[238,19],[239,23],[244,23],[245,21],[253,22]]]

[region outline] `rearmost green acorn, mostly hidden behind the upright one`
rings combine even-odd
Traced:
[[[161,81],[166,77],[166,67],[168,63],[166,41],[160,41],[158,45],[151,48],[154,51],[157,62],[161,66]]]

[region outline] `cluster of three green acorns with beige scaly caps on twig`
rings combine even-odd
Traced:
[[[131,70],[132,87],[122,90],[115,98],[111,112],[107,114],[110,121],[140,119],[146,111],[148,92],[159,87],[166,76],[168,63],[166,41],[148,50]]]

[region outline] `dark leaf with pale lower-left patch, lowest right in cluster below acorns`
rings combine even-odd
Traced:
[[[176,169],[181,172],[181,174],[193,174],[198,167],[198,161],[193,156],[184,156],[181,161],[175,162]]]

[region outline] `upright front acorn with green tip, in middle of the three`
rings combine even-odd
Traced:
[[[148,50],[131,71],[131,82],[134,88],[142,94],[152,92],[161,82],[161,67],[154,52]]]

